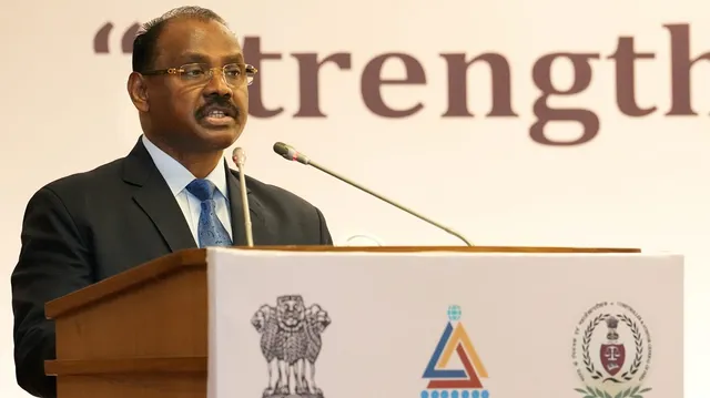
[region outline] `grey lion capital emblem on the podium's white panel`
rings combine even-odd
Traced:
[[[331,325],[320,305],[306,307],[300,295],[276,298],[276,306],[263,305],[252,317],[261,335],[261,348],[268,364],[268,386],[263,397],[323,398],[315,384],[315,363],[321,354],[321,335]]]

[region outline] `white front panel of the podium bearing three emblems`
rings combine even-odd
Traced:
[[[211,249],[211,398],[683,396],[678,255]]]

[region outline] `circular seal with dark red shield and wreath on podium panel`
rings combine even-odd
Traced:
[[[575,327],[572,365],[585,398],[642,398],[651,365],[651,335],[626,303],[597,303]]]

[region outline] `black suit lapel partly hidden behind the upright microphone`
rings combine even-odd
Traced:
[[[244,231],[244,207],[242,194],[240,192],[239,174],[226,166],[226,183],[230,196],[230,214],[232,218],[232,241],[234,246],[246,246],[246,232]],[[246,198],[248,201],[250,218],[252,221],[252,238],[254,246],[264,245],[270,234],[263,218],[263,208],[258,201],[251,194],[248,186],[246,187]]]

